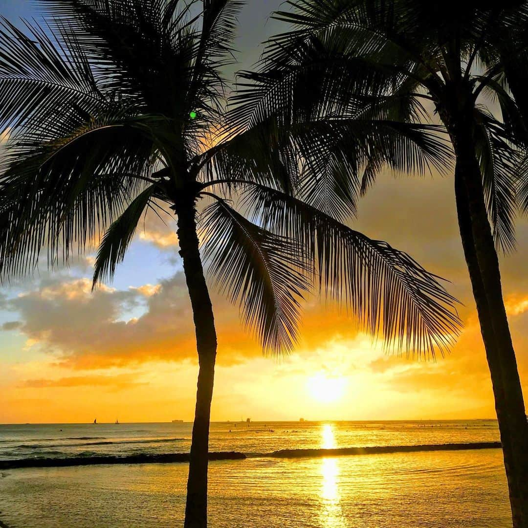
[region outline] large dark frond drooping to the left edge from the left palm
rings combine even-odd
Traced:
[[[0,178],[2,275],[30,271],[44,248],[51,266],[60,253],[68,260],[145,186],[156,153],[137,118],[112,108],[86,118],[77,115],[67,136],[42,141],[45,130],[29,130],[8,146]]]

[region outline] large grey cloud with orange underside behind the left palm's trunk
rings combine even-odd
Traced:
[[[238,310],[214,297],[219,333],[219,361],[260,354],[240,327]],[[146,305],[145,305],[146,303]],[[89,279],[47,281],[40,289],[10,301],[20,314],[18,329],[33,347],[74,369],[99,369],[152,360],[195,360],[193,316],[183,272],[157,285],[121,291]],[[127,310],[144,313],[122,320]]]

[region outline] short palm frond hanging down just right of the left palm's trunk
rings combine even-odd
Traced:
[[[244,323],[265,350],[291,351],[300,301],[309,289],[308,270],[295,240],[251,223],[221,199],[204,211],[201,230],[209,274],[239,302]]]

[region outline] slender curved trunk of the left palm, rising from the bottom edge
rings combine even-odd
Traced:
[[[178,208],[177,213],[180,255],[183,259],[187,289],[191,297],[196,330],[196,347],[200,365],[187,480],[184,527],[206,528],[209,421],[216,359],[216,331],[211,298],[205,283],[200,258],[194,206]]]

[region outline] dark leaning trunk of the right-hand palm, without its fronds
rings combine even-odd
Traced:
[[[491,372],[513,525],[528,528],[528,424],[471,130],[459,123],[451,134],[458,223]]]

